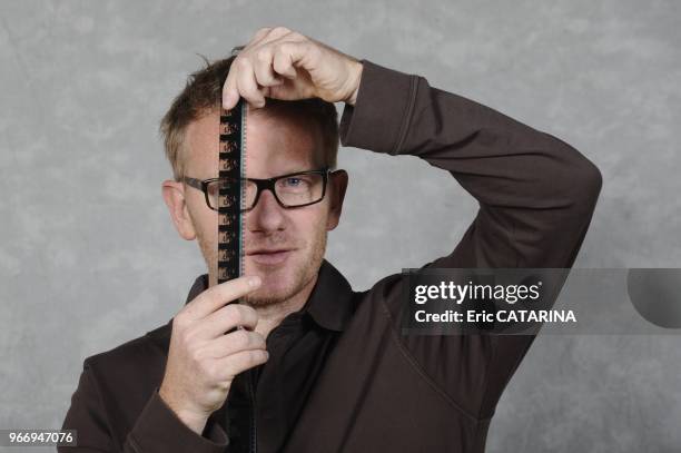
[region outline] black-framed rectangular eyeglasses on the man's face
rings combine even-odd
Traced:
[[[296,171],[287,175],[276,176],[267,179],[241,178],[245,187],[245,203],[241,213],[251,210],[263,190],[269,190],[283,208],[299,208],[314,205],[324,199],[328,175],[333,174],[328,168],[317,170]],[[206,205],[213,210],[218,210],[220,203],[229,203],[220,196],[220,189],[228,189],[229,185],[237,183],[234,178],[209,178],[196,179],[185,176],[182,181],[188,186],[199,189],[206,196]]]

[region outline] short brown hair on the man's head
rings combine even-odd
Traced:
[[[159,131],[164,140],[166,157],[172,167],[172,176],[176,180],[180,180],[185,176],[184,159],[188,156],[185,149],[187,127],[193,121],[220,108],[223,86],[229,73],[231,62],[240,49],[239,47],[235,48],[229,58],[213,62],[204,59],[206,67],[193,72],[187,78],[185,89],[175,98],[161,119]],[[315,160],[322,160],[322,166],[335,168],[338,154],[338,114],[332,102],[318,98],[295,101],[267,99],[263,114],[274,112],[304,116],[310,122],[316,124],[322,132],[323,149],[319,152],[320,156],[317,155]]]

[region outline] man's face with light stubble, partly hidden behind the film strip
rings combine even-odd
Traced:
[[[246,125],[247,177],[272,178],[317,169],[314,150],[322,146],[317,127],[299,118],[263,115],[261,110],[255,114],[249,110]],[[218,127],[217,112],[189,125],[187,176],[217,177]],[[320,203],[293,209],[280,207],[274,194],[263,191],[257,205],[244,214],[245,274],[259,275],[263,279],[263,285],[247,297],[247,302],[259,306],[275,304],[314,285],[326,250],[327,232],[338,224],[346,178],[345,173],[329,178]],[[182,211],[174,214],[176,227],[186,239],[198,239],[213,285],[217,280],[217,213],[206,205],[200,190],[171,181],[166,181],[164,187],[170,185],[184,194],[181,208],[177,201],[179,194],[175,191],[169,203],[170,194],[166,195],[164,189],[171,214]],[[283,252],[257,253],[263,250]]]

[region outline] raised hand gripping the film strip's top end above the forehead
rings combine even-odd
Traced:
[[[237,55],[223,87],[229,110],[243,97],[253,107],[265,98],[322,98],[354,105],[362,62],[285,27],[263,28]]]

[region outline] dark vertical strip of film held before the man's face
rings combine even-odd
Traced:
[[[237,278],[244,274],[244,242],[241,207],[244,190],[241,178],[246,175],[246,102],[231,109],[220,108],[220,141],[218,177],[227,183],[218,187],[218,262],[217,283]]]

